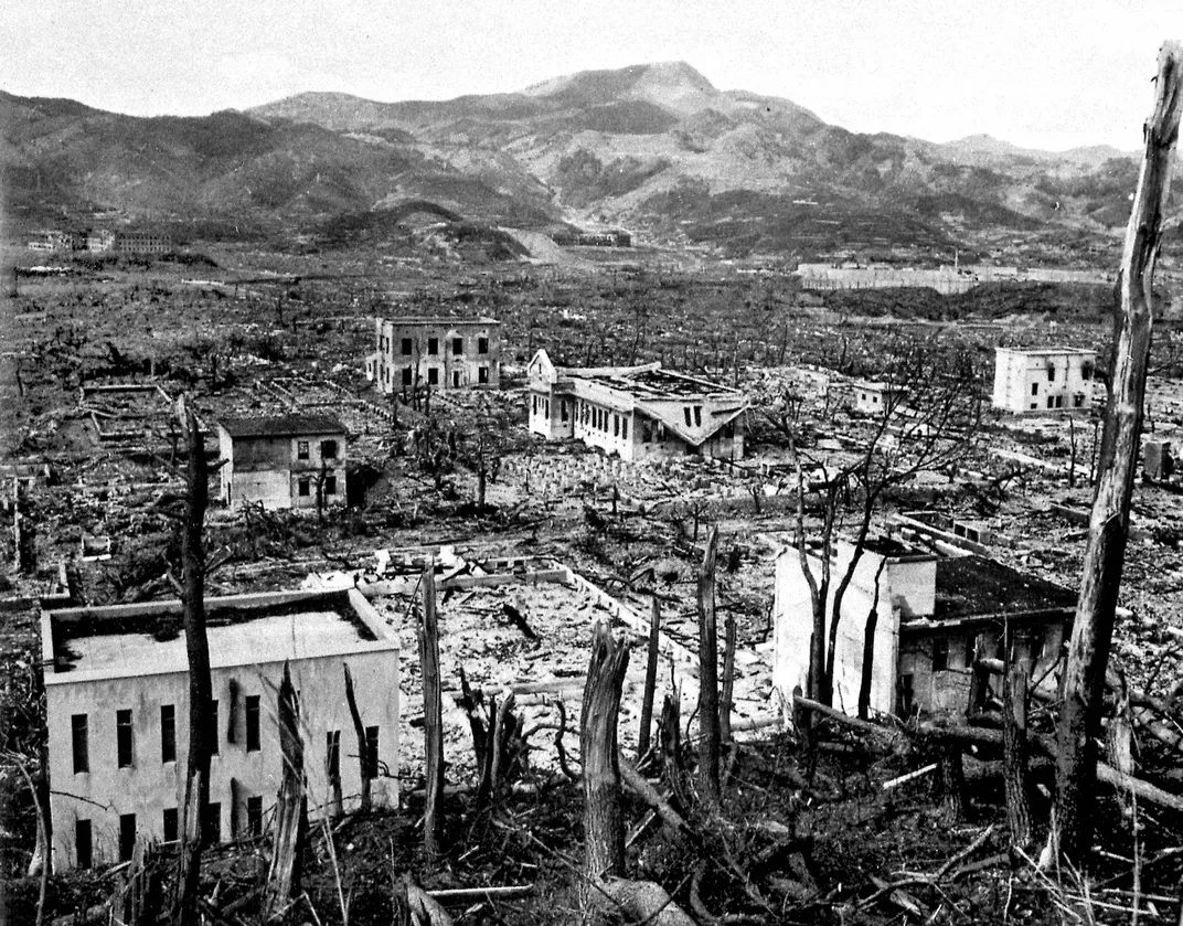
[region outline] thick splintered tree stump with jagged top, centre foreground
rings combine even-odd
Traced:
[[[620,812],[620,765],[616,720],[628,668],[628,648],[605,623],[595,627],[592,661],[583,687],[580,750],[583,756],[584,907],[595,885],[625,873],[625,825]]]

